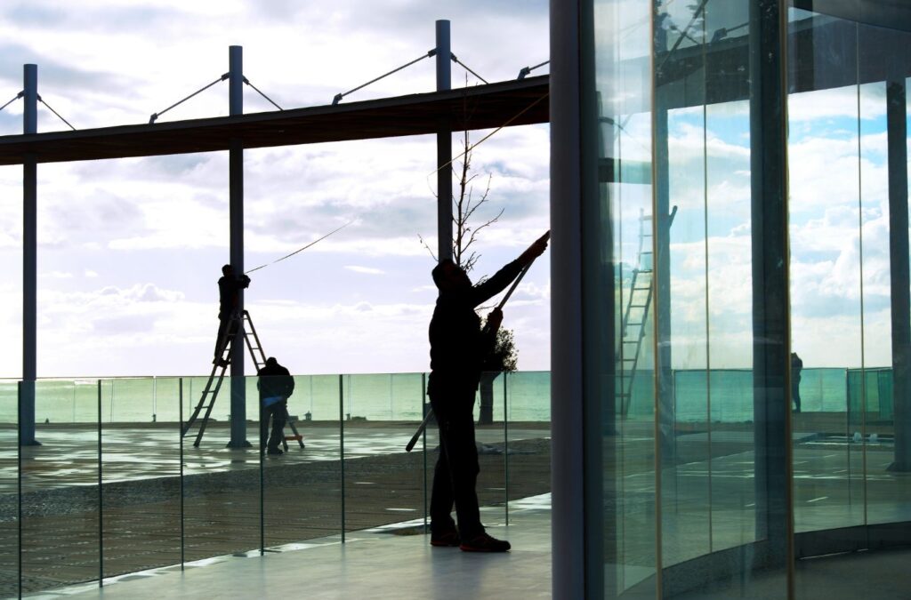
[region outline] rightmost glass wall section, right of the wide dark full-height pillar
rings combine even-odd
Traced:
[[[896,534],[882,525],[906,532],[911,519],[911,34],[800,8],[789,21],[793,512],[804,558],[890,545]],[[820,566],[798,562],[798,597],[812,596]]]

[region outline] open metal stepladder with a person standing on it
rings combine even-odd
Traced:
[[[194,425],[198,427],[196,439],[193,441],[194,447],[198,448],[200,446],[202,436],[206,432],[212,408],[215,406],[215,401],[218,399],[221,384],[224,382],[231,359],[243,360],[242,349],[241,352],[233,352],[233,346],[239,337],[238,334],[242,334],[243,336],[244,344],[250,352],[250,357],[256,367],[256,371],[261,371],[262,367],[266,364],[266,353],[262,350],[260,336],[253,325],[250,312],[248,310],[242,310],[231,315],[228,327],[225,328],[225,333],[219,340],[219,350],[216,353],[215,361],[213,361],[209,379],[206,381],[206,385],[203,387],[202,393],[200,394],[200,402],[197,402],[196,407],[193,409],[193,412],[190,414],[189,419],[181,430],[181,434],[186,436]],[[262,416],[267,414],[267,412],[261,410],[260,414]],[[282,431],[281,442],[284,449],[286,451],[288,450],[287,441],[289,439],[296,440],[298,444],[300,444],[300,447],[303,448],[302,435],[297,431],[293,419],[288,417],[287,413],[285,414],[285,417],[286,421],[284,426],[289,427],[292,430],[293,435],[285,436]]]

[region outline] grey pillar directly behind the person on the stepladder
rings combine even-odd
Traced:
[[[243,47],[229,46],[229,114],[243,114]],[[234,274],[243,273],[243,142],[231,139],[228,150],[230,265]],[[243,310],[243,290],[238,310]],[[247,382],[243,373],[243,331],[238,329],[231,342],[230,355],[230,442],[229,448],[249,448],[247,442]]]

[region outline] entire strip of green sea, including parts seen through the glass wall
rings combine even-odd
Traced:
[[[675,412],[680,422],[752,421],[752,371],[725,369],[674,371]],[[299,375],[289,412],[299,419],[339,421],[420,421],[424,373]],[[246,378],[247,418],[258,418],[256,377]],[[200,401],[205,377],[40,380],[36,382],[36,422],[178,422]],[[550,420],[550,372],[518,371],[493,381],[494,419]],[[804,369],[800,384],[806,412],[867,410],[892,416],[890,369]],[[225,378],[211,418],[227,421],[230,378]],[[654,412],[651,371],[633,382],[630,418]],[[16,381],[0,381],[0,422],[16,422]]]

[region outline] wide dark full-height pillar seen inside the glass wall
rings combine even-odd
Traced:
[[[777,567],[793,563],[784,4],[750,5],[756,538],[767,541],[763,558]]]

